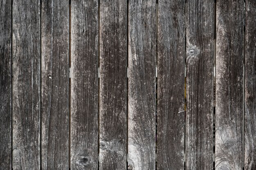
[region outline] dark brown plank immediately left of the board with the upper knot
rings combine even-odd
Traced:
[[[184,170],[185,7],[185,0],[158,1],[158,170]]]

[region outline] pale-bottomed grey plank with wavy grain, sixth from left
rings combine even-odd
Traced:
[[[130,0],[128,15],[128,168],[155,170],[155,0]]]

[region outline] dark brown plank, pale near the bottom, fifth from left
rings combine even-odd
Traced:
[[[99,169],[126,169],[127,0],[100,1]]]

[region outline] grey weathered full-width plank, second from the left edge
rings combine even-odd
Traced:
[[[40,0],[13,0],[13,170],[40,169]]]

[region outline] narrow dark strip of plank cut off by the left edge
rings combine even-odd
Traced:
[[[11,1],[0,9],[0,170],[11,170]]]

